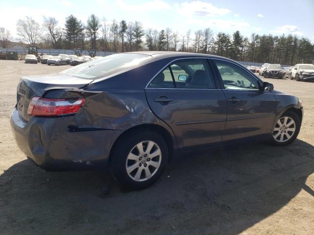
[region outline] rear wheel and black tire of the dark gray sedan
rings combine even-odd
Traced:
[[[168,147],[163,137],[153,131],[140,131],[130,132],[117,141],[109,160],[113,177],[123,187],[130,189],[143,189],[154,184],[168,161]],[[142,146],[142,154],[137,146]],[[149,146],[150,153],[147,149]],[[156,156],[150,159],[149,156],[153,154]],[[130,166],[128,171],[127,167]]]

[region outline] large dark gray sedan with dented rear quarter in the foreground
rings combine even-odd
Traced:
[[[302,117],[296,96],[231,59],[142,51],[22,77],[10,123],[42,168],[108,163],[118,182],[139,189],[186,151],[249,140],[288,145]]]

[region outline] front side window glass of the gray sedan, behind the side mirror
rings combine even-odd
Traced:
[[[259,90],[255,77],[239,66],[220,60],[213,60],[226,90]]]

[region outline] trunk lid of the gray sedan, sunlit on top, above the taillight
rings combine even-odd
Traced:
[[[25,122],[29,120],[27,109],[34,96],[41,97],[46,91],[52,89],[82,88],[92,81],[62,73],[22,77],[17,87],[17,109],[20,118]]]

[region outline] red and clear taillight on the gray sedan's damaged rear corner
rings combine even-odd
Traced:
[[[76,114],[85,103],[83,98],[49,99],[33,97],[29,103],[27,114],[30,116],[60,116]]]

